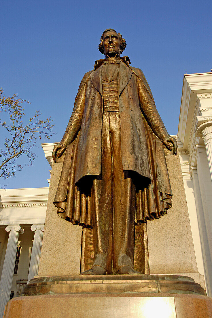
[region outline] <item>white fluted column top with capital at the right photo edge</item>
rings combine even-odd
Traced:
[[[212,121],[206,121],[197,129],[197,135],[204,140],[212,180]]]

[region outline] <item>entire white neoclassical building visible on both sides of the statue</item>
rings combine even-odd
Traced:
[[[176,138],[197,266],[212,296],[212,73],[184,75]],[[54,144],[42,145],[50,165]],[[0,190],[0,317],[38,273],[47,201],[48,188]]]

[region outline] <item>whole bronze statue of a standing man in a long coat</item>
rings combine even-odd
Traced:
[[[66,150],[54,204],[72,224],[93,228],[93,266],[82,274],[136,274],[135,224],[160,218],[172,192],[164,145],[177,152],[144,74],[120,57],[125,39],[103,32],[95,62],[80,83],[53,159]],[[171,143],[171,144],[170,144]]]

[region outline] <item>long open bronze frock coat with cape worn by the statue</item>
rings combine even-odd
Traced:
[[[124,170],[136,176],[136,224],[160,218],[171,207],[171,187],[162,140],[169,136],[157,112],[143,72],[121,57],[118,76],[120,138]],[[101,174],[103,90],[101,68],[95,62],[75,98],[61,144],[67,147],[54,204],[73,224],[92,228],[89,177]]]

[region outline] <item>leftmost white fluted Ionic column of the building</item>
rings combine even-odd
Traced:
[[[5,305],[10,299],[18,236],[19,233],[22,234],[24,232],[20,225],[8,225],[5,230],[10,232],[10,234],[7,242],[7,249],[0,281],[0,318],[3,317]]]

